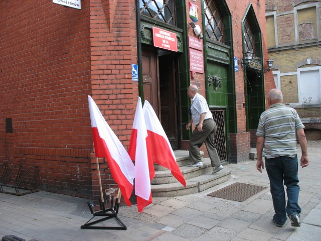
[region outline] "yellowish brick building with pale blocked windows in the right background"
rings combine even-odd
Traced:
[[[307,139],[321,140],[321,1],[265,2],[276,87],[297,110]]]

